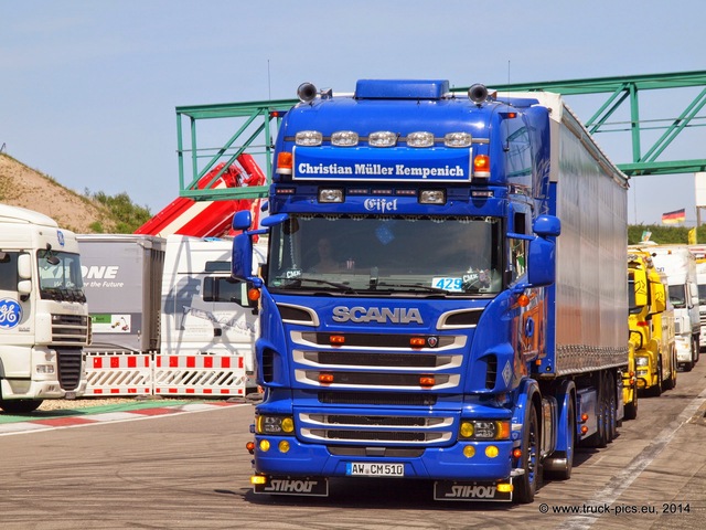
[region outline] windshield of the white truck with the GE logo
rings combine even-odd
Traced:
[[[42,250],[36,261],[42,298],[86,301],[78,254]]]

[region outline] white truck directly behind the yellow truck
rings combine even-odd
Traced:
[[[700,321],[696,258],[686,245],[631,245],[650,253],[657,271],[666,275],[674,306],[674,332],[678,365],[691,371],[698,362]]]

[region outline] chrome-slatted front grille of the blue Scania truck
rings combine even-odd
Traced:
[[[441,392],[462,392],[467,332],[290,331],[297,386],[320,404],[297,412],[298,436],[368,456],[453,443],[460,411],[429,407]],[[359,405],[375,414],[350,409]]]

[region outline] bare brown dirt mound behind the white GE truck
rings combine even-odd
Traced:
[[[0,153],[0,203],[43,213],[77,234],[96,232],[92,229],[94,223],[105,231],[116,224],[100,203],[3,153]]]

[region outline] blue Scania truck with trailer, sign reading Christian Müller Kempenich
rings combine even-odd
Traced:
[[[364,80],[299,97],[268,215],[233,221],[260,315],[255,491],[394,477],[532,502],[622,418],[625,176],[556,94]]]

